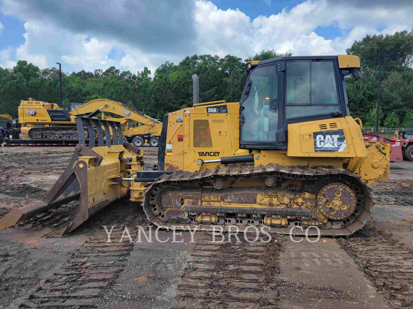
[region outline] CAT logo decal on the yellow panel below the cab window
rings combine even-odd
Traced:
[[[342,152],[346,148],[343,130],[314,132],[314,152]]]

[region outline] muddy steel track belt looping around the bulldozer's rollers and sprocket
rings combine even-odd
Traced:
[[[198,184],[202,187],[202,183],[209,181],[213,178],[223,178],[225,180],[238,180],[241,178],[258,178],[273,176],[280,180],[306,180],[307,182],[315,183],[318,180],[331,180],[331,181],[345,181],[349,183],[356,190],[357,196],[357,207],[356,212],[344,220],[345,227],[341,229],[320,229],[320,234],[323,236],[349,236],[361,229],[364,226],[368,218],[371,215],[371,208],[373,206],[373,200],[370,196],[370,189],[361,183],[360,177],[353,173],[348,172],[345,169],[339,169],[333,166],[317,166],[313,168],[302,167],[302,166],[282,166],[279,164],[267,164],[266,166],[228,166],[225,169],[221,169],[217,166],[215,169],[207,169],[201,172],[187,172],[187,171],[177,171],[171,175],[163,175],[153,184],[145,189],[145,201],[143,203],[143,210],[145,211],[148,220],[157,226],[171,229],[198,229],[211,231],[213,225],[205,223],[195,223],[195,222],[168,222],[166,218],[161,218],[162,213],[155,215],[154,205],[156,201],[156,194],[159,189],[164,186],[171,185],[175,186],[177,190],[183,190],[188,185]],[[242,193],[242,192],[240,192]],[[202,210],[204,211],[204,210]],[[225,224],[221,225],[224,229],[227,226],[234,225],[235,221],[229,221],[225,219]],[[247,224],[239,224],[240,231],[243,231],[246,227],[250,225],[262,226],[262,221],[254,222],[253,220],[248,220]],[[267,225],[268,226],[268,225]],[[290,234],[290,227],[270,227],[270,231],[277,232],[279,234]],[[305,231],[305,229],[304,229]],[[303,231],[299,229],[294,230],[294,234],[303,234]],[[311,235],[312,231],[309,232]],[[315,235],[316,233],[313,233]]]

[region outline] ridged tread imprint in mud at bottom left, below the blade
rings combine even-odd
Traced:
[[[118,241],[121,239],[124,226],[133,225],[139,220],[136,219],[136,214],[136,207],[128,205],[118,208],[115,221],[107,224],[108,230],[111,225],[116,225],[111,233],[111,243],[106,242],[107,233],[100,224],[99,229],[63,263],[60,270],[55,272],[52,278],[40,282],[33,288],[28,299],[19,306],[96,307],[103,297],[105,288],[113,284],[134,248],[134,243],[129,243],[128,239],[123,239],[122,243]],[[130,230],[130,235],[134,239],[136,230]]]

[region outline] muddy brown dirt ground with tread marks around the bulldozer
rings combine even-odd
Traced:
[[[157,149],[143,148],[145,166],[152,166]],[[0,148],[0,217],[40,200],[72,152]],[[412,307],[413,162],[392,163],[391,179],[372,191],[373,215],[361,231],[314,243],[280,235],[213,243],[208,232],[195,233],[193,242],[183,232],[176,234],[182,242],[161,243],[155,236],[165,241],[172,232],[155,235],[142,208],[127,199],[59,236],[73,201],[0,231],[0,308]],[[102,226],[115,226],[111,243]],[[133,243],[118,242],[124,226]]]

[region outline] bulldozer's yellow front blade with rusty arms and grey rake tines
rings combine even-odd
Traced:
[[[62,232],[65,234],[113,201],[126,196],[129,185],[119,179],[140,168],[140,150],[129,143],[123,145],[119,122],[86,117],[78,117],[75,121],[81,131],[84,126],[89,132],[96,128],[97,147],[93,147],[94,133],[90,135],[89,147],[85,146],[84,135],[79,134],[79,144],[75,146],[69,165],[45,197],[36,203],[12,209],[0,219],[0,230],[80,198],[74,219]],[[106,133],[106,146],[102,128]],[[128,159],[124,160],[124,157]]]

